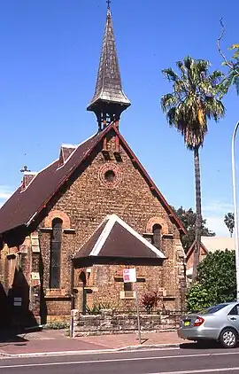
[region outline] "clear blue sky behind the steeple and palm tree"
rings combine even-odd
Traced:
[[[120,130],[173,206],[195,206],[193,154],[168,128],[160,108],[160,97],[171,90],[161,70],[186,55],[220,68],[220,18],[228,52],[239,42],[238,13],[235,0],[230,6],[222,0],[112,0],[121,78],[132,102]],[[96,132],[86,106],[95,89],[106,3],[2,0],[0,14],[3,204],[18,187],[24,165],[40,170],[58,157],[60,144],[81,143]],[[232,90],[224,100],[227,115],[209,124],[201,152],[204,217],[218,235],[228,235],[223,216],[233,209],[230,147],[238,103]]]

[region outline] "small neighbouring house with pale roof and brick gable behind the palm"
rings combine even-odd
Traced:
[[[186,257],[186,274],[189,279],[192,277],[193,272],[193,259],[196,242],[189,248]],[[220,237],[201,237],[200,257],[199,261],[204,260],[208,253],[213,253],[217,250],[220,251],[235,251],[235,238],[220,238]]]

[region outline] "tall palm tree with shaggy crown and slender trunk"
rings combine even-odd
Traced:
[[[222,97],[223,74],[220,71],[209,73],[209,61],[186,57],[176,63],[179,74],[170,67],[163,70],[167,80],[173,83],[173,92],[161,98],[163,111],[171,127],[184,137],[190,151],[194,152],[196,183],[196,247],[193,265],[193,282],[197,279],[197,265],[201,241],[201,181],[199,148],[204,144],[207,121],[219,121],[225,113],[220,101]]]

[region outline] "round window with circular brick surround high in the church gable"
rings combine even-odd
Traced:
[[[107,163],[99,170],[99,180],[106,188],[117,187],[122,180],[122,173],[118,165]]]

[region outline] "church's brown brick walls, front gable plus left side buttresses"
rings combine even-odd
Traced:
[[[142,280],[138,283],[139,297],[148,291],[159,291],[162,302],[158,308],[163,304],[171,310],[184,308],[184,252],[180,231],[123,144],[120,144],[120,157],[115,154],[116,142],[115,133],[111,131],[107,135],[107,157],[102,152],[103,144],[99,144],[91,157],[66,181],[64,188],[52,197],[46,206],[47,214],[39,216],[37,226],[32,226],[33,232],[29,232],[21,243],[27,257],[20,269],[29,284],[29,305],[37,320],[39,316],[43,322],[69,316],[72,286],[76,292],[75,308],[80,310],[83,303],[90,307],[99,302],[112,304],[120,310],[135,308],[135,300],[120,298],[124,287],[119,279],[127,263],[75,269],[72,281],[74,254],[107,214],[117,214],[149,240],[153,225],[161,226],[160,250],[166,255],[166,261],[163,266],[148,266],[147,263],[137,266],[137,277]],[[107,170],[113,170],[114,178],[110,182],[104,177]],[[63,222],[60,287],[50,289],[50,238],[55,218]],[[17,246],[17,252],[19,248]],[[11,251],[12,248],[8,248],[7,252]],[[16,265],[16,258],[11,262],[6,255],[2,261],[8,263],[8,267],[11,263],[13,268]],[[86,277],[86,284],[82,284],[81,273]],[[4,284],[7,285],[6,277]]]

